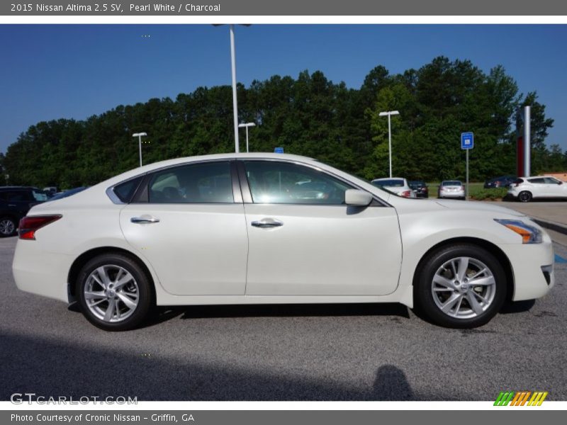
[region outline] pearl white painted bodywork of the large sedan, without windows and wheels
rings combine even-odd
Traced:
[[[289,205],[236,203],[230,206],[229,215],[232,214],[232,218],[227,220],[228,224],[222,225],[220,230],[206,229],[205,226],[200,229],[191,225],[185,227],[185,232],[196,234],[199,244],[203,243],[208,230],[212,235],[211,244],[206,248],[210,257],[202,259],[200,264],[186,261],[186,265],[189,265],[186,267],[187,273],[191,272],[191,268],[198,269],[198,275],[193,276],[191,283],[191,280],[184,280],[174,276],[173,271],[168,271],[167,259],[155,252],[177,251],[174,252],[173,258],[182,261],[186,256],[180,253],[181,249],[188,252],[193,259],[194,256],[200,255],[199,247],[183,246],[182,242],[167,240],[167,237],[157,231],[159,225],[164,224],[163,221],[156,225],[143,225],[144,229],[147,228],[144,235],[140,230],[136,230],[141,228],[141,225],[134,227],[128,222],[130,217],[142,212],[155,215],[163,213],[149,210],[147,207],[150,205],[116,205],[106,195],[107,188],[155,169],[199,162],[203,159],[235,158],[269,158],[308,164],[351,181],[358,188],[372,193],[377,200],[390,206],[369,206],[359,216],[347,215],[348,207],[337,206],[333,207],[336,208],[333,212],[325,212],[323,217],[320,217],[315,210],[318,207],[315,206],[312,207],[313,210],[307,212],[308,208],[305,208],[301,213],[297,207],[292,206],[287,208],[288,212],[285,213],[285,208],[281,207]],[[153,208],[156,205],[151,206]],[[187,208],[186,204],[183,206]],[[224,206],[210,207],[209,210],[202,208],[197,214],[203,217],[207,212],[215,213],[215,208]],[[168,208],[163,217],[174,217],[179,213],[174,210],[175,208]],[[342,219],[339,213],[341,211],[344,214]],[[63,217],[39,229],[35,241],[18,240],[13,274],[16,285],[21,290],[65,302],[73,300],[69,295],[67,282],[72,263],[86,251],[101,247],[123,249],[137,256],[145,264],[155,283],[158,305],[402,302],[412,307],[412,280],[423,256],[436,244],[447,239],[462,238],[482,239],[503,251],[514,270],[513,300],[541,297],[554,284],[553,273],[548,285],[541,271],[541,266],[554,263],[554,251],[549,236],[543,232],[543,243],[525,245],[521,243],[518,234],[493,220],[500,218],[528,221],[524,215],[485,203],[414,200],[392,196],[371,183],[330,166],[288,154],[221,154],[150,164],[113,177],[72,197],[37,205],[28,213],[44,214],[62,214]],[[279,229],[258,229],[249,226],[251,221],[259,217],[276,215],[284,221],[283,227]],[[298,218],[309,215],[312,217],[308,222]],[[242,227],[235,224],[238,220],[242,220]],[[369,227],[363,227],[362,222],[368,222]],[[347,225],[344,229],[337,229],[339,223]],[[533,222],[529,224],[539,228]],[[330,227],[330,232],[334,232],[332,238],[320,236],[322,229],[327,226]],[[173,234],[174,227],[174,224],[168,224],[164,227],[164,232]],[[236,229],[235,235],[231,235],[230,246],[219,248],[219,252],[213,254],[211,247],[218,246],[220,234],[228,232],[228,229]],[[239,242],[242,234],[248,235],[250,254],[249,262],[245,266],[239,263],[244,261],[245,254],[248,254],[246,243]],[[277,238],[270,240],[271,234]],[[302,243],[297,239],[301,234],[315,234],[316,237],[305,239],[308,242],[304,240]],[[293,249],[286,249],[289,246]],[[305,259],[310,249],[321,251],[324,255]],[[228,266],[227,270],[220,271],[219,276],[211,279],[207,270],[216,273],[223,266],[218,260],[235,252],[235,258],[223,263]],[[325,282],[320,278],[320,268],[330,261],[333,274],[327,276],[328,281]],[[279,262],[286,267],[279,266]],[[293,264],[296,267],[290,268]],[[182,268],[184,264],[176,264],[175,267],[177,266]],[[247,279],[243,277],[245,267],[249,268]],[[379,276],[373,280],[376,273]],[[184,284],[188,282],[196,286],[186,290]],[[213,290],[203,290],[205,283],[213,285]],[[290,284],[288,288],[286,283]],[[303,283],[307,285],[302,288]],[[226,295],[221,295],[221,291]],[[228,292],[230,294],[227,294]],[[281,295],[283,292],[288,295]]]

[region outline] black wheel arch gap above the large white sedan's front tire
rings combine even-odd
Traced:
[[[485,249],[486,251],[493,254],[498,262],[502,265],[504,269],[504,273],[506,276],[506,300],[512,300],[514,295],[514,288],[515,288],[515,279],[514,279],[514,271],[512,270],[512,263],[510,263],[510,259],[508,259],[507,255],[504,253],[502,249],[500,249],[497,245],[493,244],[486,239],[481,239],[477,237],[454,237],[451,239],[446,239],[442,242],[439,242],[428,249],[422,256],[420,261],[417,263],[415,270],[413,272],[412,278],[412,285],[413,285],[413,296],[415,297],[415,288],[417,288],[417,278],[420,274],[421,269],[425,264],[425,259],[427,256],[431,254],[433,251],[437,249],[444,248],[445,246],[450,246],[454,244],[470,244],[474,246],[480,246],[481,248]]]

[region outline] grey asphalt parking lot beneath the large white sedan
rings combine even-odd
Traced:
[[[0,399],[567,399],[567,263],[556,287],[478,329],[435,327],[402,305],[186,307],[108,333],[74,307],[17,290],[0,239]],[[555,244],[567,259],[567,247]]]

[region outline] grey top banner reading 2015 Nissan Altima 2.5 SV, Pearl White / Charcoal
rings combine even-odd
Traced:
[[[556,0],[128,0],[18,1],[0,4],[8,16],[559,16]]]

